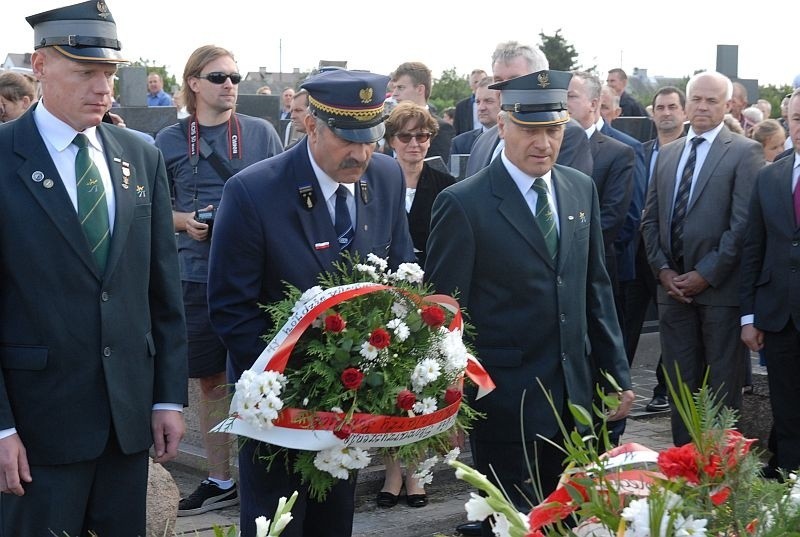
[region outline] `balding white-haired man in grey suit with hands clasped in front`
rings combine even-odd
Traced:
[[[658,289],[661,351],[673,385],[710,388],[739,408],[744,348],[739,339],[739,260],[760,144],[723,124],[731,81],[716,72],[686,86],[686,138],[661,148],[642,218],[642,237]],[[679,368],[680,377],[676,372]],[[691,441],[672,407],[672,438]]]

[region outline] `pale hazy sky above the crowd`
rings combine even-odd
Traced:
[[[0,61],[30,52],[25,17],[69,0],[7,0],[2,8]],[[180,79],[191,52],[215,44],[231,50],[242,73],[310,71],[319,60],[347,60],[351,69],[389,74],[421,61],[434,78],[446,69],[490,71],[501,41],[538,44],[539,33],[561,30],[583,67],[634,68],[650,76],[681,77],[716,66],[717,45],[739,46],[740,78],[791,84],[800,73],[800,2],[722,0],[108,0],[127,59],[165,65]],[[726,5],[727,4],[727,5]],[[470,6],[470,7],[468,7]],[[778,11],[780,9],[780,11]],[[786,21],[786,22],[783,22]],[[781,29],[781,28],[785,29]],[[791,59],[783,59],[791,54]]]

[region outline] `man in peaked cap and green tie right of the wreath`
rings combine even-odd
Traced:
[[[428,240],[426,279],[438,292],[459,292],[478,358],[497,385],[479,400],[468,394],[486,414],[471,433],[476,467],[496,473],[520,510],[528,508],[525,498],[541,500],[523,448],[544,495],[556,486],[563,453],[538,435],[561,441],[556,418],[569,415],[567,400],[590,409],[594,384],[607,371],[623,390],[615,417],[633,402],[597,191],[589,176],[555,164],[569,120],[570,78],[539,71],[490,86],[501,91],[505,148],[487,168],[439,194]],[[483,531],[491,535],[488,524]]]

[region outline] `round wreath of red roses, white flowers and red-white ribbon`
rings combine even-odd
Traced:
[[[392,272],[370,254],[335,269],[265,307],[276,328],[214,429],[300,450],[293,469],[317,499],[367,466],[367,448],[407,463],[448,451],[451,429],[474,418],[465,377],[479,396],[494,387],[462,341],[458,303],[430,295],[416,264]]]

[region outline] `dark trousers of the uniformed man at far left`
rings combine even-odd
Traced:
[[[0,536],[145,537],[147,467],[147,451],[125,455],[113,432],[97,459],[33,465],[24,496],[0,495]]]

